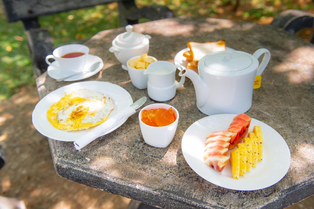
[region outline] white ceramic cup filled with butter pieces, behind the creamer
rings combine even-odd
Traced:
[[[135,69],[133,67],[129,66],[129,61],[133,60],[134,58],[136,58],[138,56],[133,56],[132,58],[130,58],[127,61],[127,69],[128,69],[128,73],[129,76],[131,78],[131,82],[133,84],[133,86],[135,86],[138,89],[145,89],[147,88],[147,81],[148,81],[148,76],[144,75],[144,70],[140,70],[140,69]],[[157,61],[157,59],[153,56],[149,56],[152,57],[155,61]]]

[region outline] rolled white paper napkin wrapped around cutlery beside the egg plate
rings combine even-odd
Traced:
[[[84,134],[82,137],[79,137],[74,142],[74,147],[79,150],[88,145],[90,142],[94,141],[96,138],[105,135],[107,131],[109,131],[112,127],[116,126],[120,122],[124,121],[131,115],[133,115],[136,111],[128,106],[118,112],[116,115],[108,119],[107,121],[103,122],[99,126],[97,126],[93,131],[90,131]]]

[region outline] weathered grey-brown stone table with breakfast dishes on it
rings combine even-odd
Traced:
[[[111,41],[124,31],[101,31],[86,42],[90,54],[100,56],[105,65],[100,73],[85,80],[120,85],[135,101],[148,96],[147,89],[135,88],[127,71],[108,51]],[[180,113],[176,135],[168,147],[155,148],[144,143],[137,111],[121,127],[80,152],[73,142],[49,139],[58,175],[163,208],[275,208],[314,194],[312,44],[273,26],[212,18],[163,19],[134,25],[134,31],[152,36],[149,55],[171,62],[188,41],[223,39],[227,46],[251,54],[267,48],[272,57],[263,72],[261,88],[254,89],[253,105],[247,114],[273,127],[285,139],[291,152],[288,173],[277,184],[256,191],[225,189],[198,176],[182,155],[181,139],[193,122],[206,115],[197,109],[194,87],[187,78],[176,96],[165,102]],[[56,82],[44,73],[36,83],[43,98],[71,82]],[[148,99],[146,105],[151,103],[154,101]]]

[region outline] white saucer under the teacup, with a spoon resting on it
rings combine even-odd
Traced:
[[[64,81],[78,81],[95,75],[104,66],[104,62],[99,56],[88,54],[86,64],[83,70],[88,71],[89,67],[92,66],[95,62],[100,62],[99,67],[95,71],[79,74],[71,78],[65,79]],[[57,61],[51,62],[51,65],[48,66],[47,72],[51,78],[56,80],[75,74],[75,72],[64,72],[64,70],[62,70],[62,68],[59,67],[59,63]]]

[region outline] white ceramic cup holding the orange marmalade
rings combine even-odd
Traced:
[[[166,110],[169,110],[169,108],[171,107],[172,107],[172,111],[176,115],[176,120],[168,126],[161,126],[161,127],[149,126],[143,123],[143,121],[141,120],[143,110],[150,110],[150,109],[157,110],[158,108],[165,108]],[[156,103],[156,104],[151,104],[144,107],[138,114],[138,120],[139,120],[139,125],[141,127],[144,141],[150,146],[164,148],[164,147],[167,147],[171,143],[173,137],[175,136],[176,129],[178,126],[178,121],[179,121],[179,112],[176,108],[174,108],[171,105]]]

